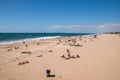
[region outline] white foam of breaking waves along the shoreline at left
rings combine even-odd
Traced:
[[[27,38],[27,39],[12,40],[12,41],[0,41],[0,45],[21,43],[21,42],[23,42],[23,41],[37,41],[37,40],[54,39],[54,38],[59,38],[59,37],[61,37],[61,36],[39,37],[39,38]]]

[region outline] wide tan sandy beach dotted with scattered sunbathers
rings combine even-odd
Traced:
[[[120,80],[119,35],[76,37],[79,46],[69,39],[0,46],[0,80]],[[46,77],[46,69],[55,77]]]

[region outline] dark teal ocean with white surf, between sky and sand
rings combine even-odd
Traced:
[[[93,33],[0,33],[0,45],[30,40],[53,39],[58,37],[83,36]]]

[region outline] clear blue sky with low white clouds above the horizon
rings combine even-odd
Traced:
[[[0,0],[0,32],[120,31],[120,0]]]

